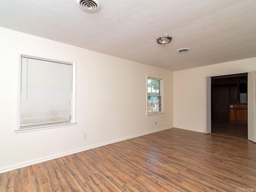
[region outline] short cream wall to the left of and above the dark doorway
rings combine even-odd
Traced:
[[[256,70],[256,58],[175,71],[174,127],[204,132],[205,76],[236,74],[250,70]]]

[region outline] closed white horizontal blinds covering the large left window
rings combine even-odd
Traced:
[[[20,128],[69,123],[72,64],[22,55]]]

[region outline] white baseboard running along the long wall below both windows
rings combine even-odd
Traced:
[[[111,144],[111,143],[115,143],[115,142],[131,139],[131,138],[134,138],[134,137],[138,137],[138,136],[142,136],[142,135],[146,135],[146,134],[150,134],[150,133],[166,130],[166,129],[169,129],[169,128],[173,128],[173,127],[160,128],[160,129],[157,129],[157,130],[143,132],[143,133],[139,133],[139,134],[123,137],[123,138],[118,138],[118,139],[110,140],[110,141],[107,141],[107,142],[102,142],[102,143],[98,143],[98,144],[94,144],[94,145],[90,145],[90,146],[85,146],[85,147],[78,148],[78,149],[75,149],[75,150],[70,150],[70,151],[67,151],[67,152],[62,152],[62,153],[46,156],[46,157],[39,158],[39,159],[34,159],[34,160],[18,163],[18,164],[15,164],[15,165],[11,165],[11,166],[7,166],[7,167],[4,167],[4,168],[0,168],[0,173],[11,171],[11,170],[18,169],[18,168],[22,168],[22,167],[29,166],[29,165],[32,165],[32,164],[36,164],[36,163],[52,160],[52,159],[55,159],[55,158],[63,157],[63,156],[66,156],[66,155],[78,153],[78,152],[89,150],[89,149],[92,149],[92,148],[108,145],[108,144]]]

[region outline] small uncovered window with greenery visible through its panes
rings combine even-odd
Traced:
[[[160,78],[148,77],[148,107],[150,114],[163,113],[163,80]]]

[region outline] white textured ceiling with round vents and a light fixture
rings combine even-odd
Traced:
[[[0,26],[174,71],[256,57],[255,0],[99,1],[0,0]]]

